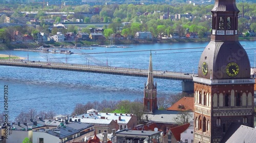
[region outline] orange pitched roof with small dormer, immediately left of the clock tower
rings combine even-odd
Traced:
[[[194,97],[183,97],[166,110],[173,111],[194,111]]]

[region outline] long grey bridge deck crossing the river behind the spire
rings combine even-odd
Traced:
[[[79,72],[94,72],[94,73],[104,73],[104,74],[116,74],[116,75],[127,75],[127,76],[141,76],[147,77],[148,70],[144,69],[129,69],[129,68],[119,68],[119,67],[101,67],[93,65],[81,65],[81,64],[59,64],[47,62],[28,62],[28,61],[14,61],[14,60],[0,60],[0,65],[2,66],[15,66],[15,67],[28,67],[28,68],[42,68],[42,69],[54,69],[54,70],[68,70],[68,71],[79,71]],[[185,75],[179,72],[165,72],[154,71],[154,78],[163,79],[174,79],[183,81],[193,81],[192,74]],[[196,75],[195,75],[196,76]]]

